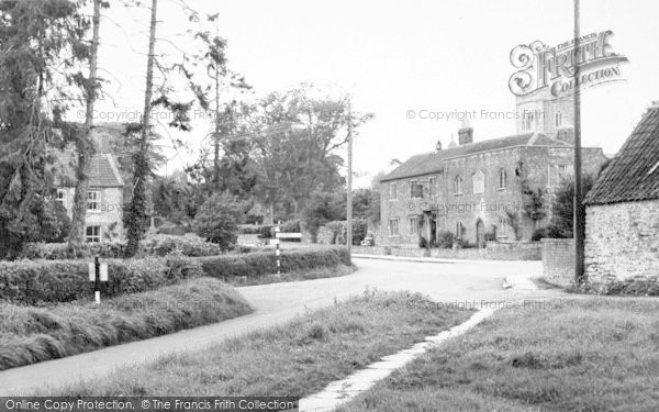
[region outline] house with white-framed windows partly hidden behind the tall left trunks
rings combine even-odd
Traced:
[[[91,159],[89,188],[87,191],[87,213],[85,235],[87,242],[103,242],[123,236],[123,190],[124,180],[120,174],[116,157],[109,153],[109,145],[101,138],[107,133],[94,127],[97,153]],[[78,162],[74,149],[55,153],[56,200],[72,216],[76,180],[74,166]]]

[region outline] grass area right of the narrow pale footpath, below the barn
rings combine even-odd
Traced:
[[[659,301],[500,310],[342,412],[656,411]]]

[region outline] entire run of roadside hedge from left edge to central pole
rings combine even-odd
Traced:
[[[35,304],[91,300],[89,281],[91,260],[16,260],[0,261],[0,299]],[[263,276],[276,272],[275,250],[187,257],[180,253],[164,258],[109,259],[107,298],[136,293],[178,283],[189,278],[210,276]],[[286,250],[281,254],[283,272],[349,264],[345,247],[322,247]]]

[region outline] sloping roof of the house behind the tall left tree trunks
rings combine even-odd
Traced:
[[[56,183],[59,187],[74,187],[76,182],[75,165],[78,156],[75,151],[62,151],[54,153]],[[89,170],[90,188],[122,188],[124,181],[119,172],[114,155],[97,153],[91,158]]]

